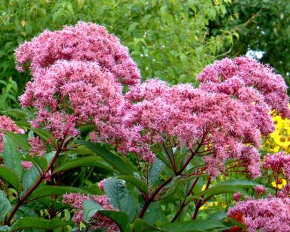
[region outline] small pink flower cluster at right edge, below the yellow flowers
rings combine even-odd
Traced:
[[[284,151],[276,154],[268,154],[262,166],[267,170],[271,170],[276,179],[278,175],[283,175],[288,181],[290,180],[290,155],[286,155]]]

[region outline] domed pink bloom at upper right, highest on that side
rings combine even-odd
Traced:
[[[260,64],[249,57],[222,59],[206,66],[197,78],[202,82],[200,88],[226,93],[241,100],[242,97],[253,101],[254,95],[245,95],[247,88],[255,88],[272,109],[278,110],[285,117],[290,116],[287,106],[287,85],[281,75],[273,72],[269,66]],[[253,90],[251,90],[253,91]],[[242,97],[241,97],[242,95]],[[251,99],[253,98],[253,99]]]

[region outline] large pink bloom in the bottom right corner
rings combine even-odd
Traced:
[[[242,220],[249,232],[290,231],[290,199],[276,198],[238,202],[229,217]]]

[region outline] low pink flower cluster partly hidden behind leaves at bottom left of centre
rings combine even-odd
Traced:
[[[104,210],[116,210],[113,206],[109,204],[109,199],[106,195],[98,196],[88,196],[80,193],[69,193],[63,196],[63,204],[68,204],[75,209],[75,214],[72,217],[72,220],[77,224],[84,222],[83,219],[83,202],[84,200],[94,200],[99,204]],[[115,224],[110,218],[96,213],[93,216],[95,222],[90,229],[105,229],[106,232],[118,232],[119,227]]]

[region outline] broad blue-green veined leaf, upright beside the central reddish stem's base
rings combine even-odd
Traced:
[[[128,214],[131,219],[135,217],[135,200],[130,191],[126,189],[124,181],[108,179],[105,182],[104,190],[106,195],[110,198],[110,204],[113,204],[115,208]]]

